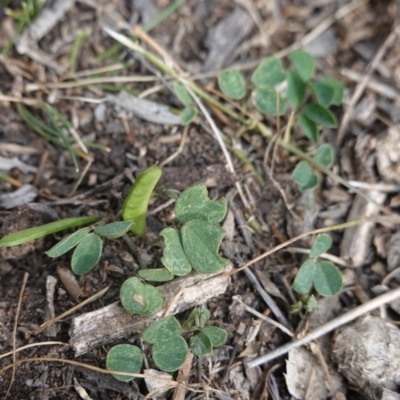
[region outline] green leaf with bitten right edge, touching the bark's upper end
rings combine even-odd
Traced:
[[[193,269],[213,274],[228,265],[229,261],[218,254],[224,235],[225,231],[222,228],[207,221],[195,219],[183,226],[183,249]]]

